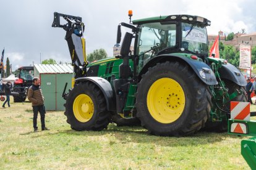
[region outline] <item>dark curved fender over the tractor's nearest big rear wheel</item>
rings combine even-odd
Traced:
[[[187,63],[190,68],[195,72],[195,74],[198,76],[198,78],[203,81],[203,83],[207,85],[215,85],[218,84],[215,75],[213,73],[213,70],[204,62],[200,62],[198,60],[192,60],[192,59],[187,59],[186,57],[181,57],[178,55],[160,55],[158,57],[155,57],[154,59],[150,60],[143,68],[142,71],[140,72],[141,76],[145,72],[147,72],[148,67],[153,67],[156,65],[158,62],[174,62],[174,61],[179,61],[183,63]]]

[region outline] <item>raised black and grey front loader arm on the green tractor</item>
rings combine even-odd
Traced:
[[[61,17],[67,21],[66,24],[61,24]],[[82,18],[54,12],[52,27],[63,28],[66,31],[65,39],[69,46],[75,78],[86,76],[88,62],[85,52],[85,38],[83,38],[84,25]]]

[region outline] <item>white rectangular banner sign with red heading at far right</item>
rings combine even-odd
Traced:
[[[250,46],[240,45],[239,68],[250,70]]]

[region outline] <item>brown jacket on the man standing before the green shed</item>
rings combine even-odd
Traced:
[[[35,86],[35,84],[33,84],[29,87],[28,100],[32,102],[32,106],[43,105],[45,98],[43,97],[43,93],[40,86]]]

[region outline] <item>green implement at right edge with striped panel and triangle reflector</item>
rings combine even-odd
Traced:
[[[255,112],[250,112],[249,102],[231,101],[228,134],[254,136],[241,141],[241,154],[250,168],[256,169],[256,121],[250,119],[251,115],[255,115]]]

